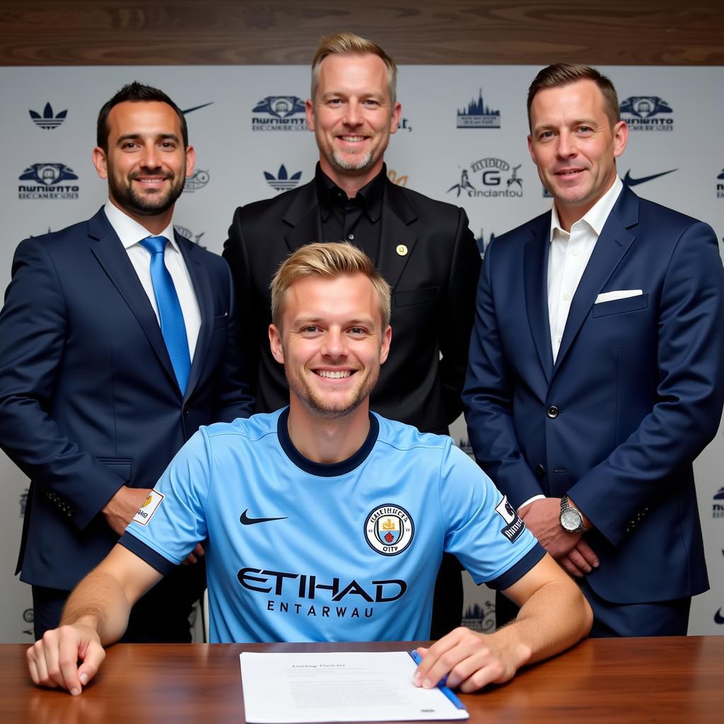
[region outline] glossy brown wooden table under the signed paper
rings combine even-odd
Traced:
[[[242,651],[410,644],[117,644],[80,696],[37,689],[25,646],[0,645],[4,724],[242,724]],[[462,695],[473,723],[724,722],[724,636],[591,639],[504,686]]]

